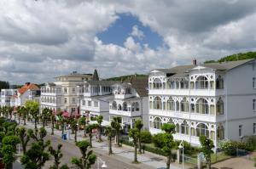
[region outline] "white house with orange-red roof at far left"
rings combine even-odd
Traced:
[[[10,99],[10,106],[24,106],[27,100],[40,102],[40,88],[36,84],[26,82],[18,88]]]

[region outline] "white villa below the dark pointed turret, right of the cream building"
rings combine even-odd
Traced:
[[[81,115],[95,121],[98,115],[103,116],[104,121],[109,120],[109,99],[113,99],[110,81],[86,81],[79,86],[79,106]]]

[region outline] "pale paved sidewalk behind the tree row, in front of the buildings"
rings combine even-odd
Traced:
[[[31,121],[27,121],[26,127],[34,128],[34,124]],[[39,127],[42,127],[42,126],[38,125],[38,128]],[[48,133],[51,132],[50,126],[45,127],[45,129]],[[55,129],[55,136],[61,138],[61,131]],[[89,137],[83,138],[83,136],[84,136],[84,131],[79,131],[77,140],[81,141],[84,139],[89,139]],[[92,140],[93,150],[95,150],[96,152],[98,151],[98,152],[104,152],[105,154],[108,154],[108,141],[106,141],[107,138],[102,136],[102,139],[103,139],[103,142],[98,143],[98,142],[96,142],[95,137],[94,137],[94,139]],[[74,144],[74,134],[70,134],[70,139],[67,140],[67,142]],[[118,158],[124,159],[125,161],[133,161],[133,158],[134,158],[133,147],[123,144],[122,147],[115,147],[113,145],[112,149],[113,149],[113,154],[117,155]],[[143,164],[142,168],[144,168],[144,166],[146,166],[148,169],[150,169],[150,168],[157,168],[157,169],[166,168],[166,157],[165,156],[155,155],[155,154],[147,152],[147,151],[143,155],[137,155],[137,160],[139,162],[141,162],[141,164]],[[141,166],[141,165],[137,165],[137,166]],[[175,162],[175,163],[171,164],[171,168],[172,169],[180,169],[180,168],[182,168],[182,165],[179,165]],[[184,166],[184,168],[187,169],[189,167]]]

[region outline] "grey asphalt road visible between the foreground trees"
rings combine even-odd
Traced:
[[[73,166],[71,164],[72,157],[79,157],[80,151],[74,144],[67,141],[63,141],[60,138],[55,138],[56,136],[47,136],[46,139],[51,141],[52,146],[56,149],[58,144],[62,144],[61,152],[63,157],[61,158],[61,165],[67,164],[68,166]],[[139,169],[136,165],[129,164],[131,161],[126,161],[124,158],[120,158],[117,155],[107,155],[106,152],[102,152],[101,149],[93,149],[96,152],[97,157],[100,157],[103,161],[106,161],[108,168],[110,169]],[[48,169],[49,166],[53,165],[53,160],[48,161],[44,168]],[[102,165],[102,164],[101,164]],[[101,166],[100,165],[100,166]],[[93,169],[97,168],[97,163],[92,166]],[[100,167],[101,168],[101,167]]]

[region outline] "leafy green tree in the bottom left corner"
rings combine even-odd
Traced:
[[[5,136],[3,138],[3,162],[6,169],[13,168],[13,162],[15,161],[16,145],[20,144],[20,139],[17,136]]]

